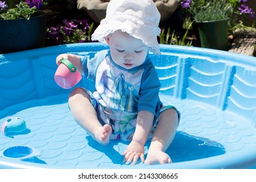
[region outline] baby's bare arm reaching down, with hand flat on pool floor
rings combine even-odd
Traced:
[[[135,164],[139,158],[144,162],[144,146],[152,128],[154,120],[154,114],[149,111],[141,110],[137,115],[137,125],[132,138],[132,142],[128,145],[126,151],[124,151],[124,162],[126,164]]]

